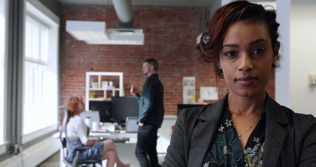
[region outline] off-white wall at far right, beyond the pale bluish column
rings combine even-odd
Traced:
[[[290,108],[316,116],[316,87],[308,73],[316,73],[316,1],[292,0],[290,16]]]

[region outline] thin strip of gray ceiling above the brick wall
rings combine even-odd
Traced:
[[[58,0],[62,4],[109,4],[112,0]],[[132,5],[146,6],[211,6],[215,0],[131,0]]]

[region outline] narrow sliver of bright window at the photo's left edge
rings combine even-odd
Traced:
[[[4,140],[4,70],[5,70],[5,27],[6,1],[0,0],[0,145]]]

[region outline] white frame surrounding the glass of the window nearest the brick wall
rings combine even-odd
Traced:
[[[42,3],[40,3],[38,0],[26,0],[24,1],[24,8],[25,8],[25,15],[30,16],[31,18],[34,19],[36,21],[40,21],[40,23],[44,23],[44,25],[47,25],[47,27],[50,28],[50,31],[52,33],[49,33],[49,42],[50,42],[50,46],[49,48],[51,48],[51,50],[49,51],[49,55],[55,54],[57,55],[57,65],[58,63],[58,53],[59,53],[59,17],[57,15],[55,15],[51,10],[49,10],[46,6],[44,6]],[[26,18],[24,18],[26,19]],[[24,31],[25,32],[25,29]],[[53,45],[51,45],[51,43]],[[23,44],[23,46],[25,46]],[[23,57],[24,57],[25,53],[23,50]],[[31,59],[26,59],[24,57],[23,62],[33,62],[35,60],[31,60]],[[45,65],[45,62],[34,62],[34,63],[38,63],[38,64],[42,64]],[[24,82],[24,71],[25,67],[24,67],[24,63],[23,63],[23,82]],[[58,67],[57,67],[58,69]],[[58,84],[58,80],[59,80],[59,76],[58,76],[58,70],[57,70],[57,83]],[[23,100],[22,100],[22,106],[24,106],[24,85],[25,83],[23,83]],[[59,86],[57,87],[57,90],[59,90]],[[59,100],[59,93],[57,93],[57,103]],[[36,130],[34,132],[28,133],[28,134],[23,134],[23,119],[24,119],[24,111],[22,112],[22,124],[21,124],[21,138],[22,138],[22,144],[25,144],[27,142],[32,141],[33,139],[39,138],[45,134],[51,133],[55,130],[58,129],[58,123],[56,122],[56,124],[50,125],[48,127]],[[58,106],[56,106],[56,115],[58,115]],[[57,116],[58,118],[58,116]],[[43,119],[49,119],[49,118],[43,118]],[[35,120],[36,121],[36,120]],[[58,120],[56,120],[58,121]]]

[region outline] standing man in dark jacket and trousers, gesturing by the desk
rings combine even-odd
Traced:
[[[143,62],[143,75],[147,78],[142,91],[138,94],[137,86],[131,86],[131,94],[139,102],[139,125],[137,134],[136,157],[141,167],[157,167],[157,130],[161,127],[163,114],[163,86],[158,78],[158,62],[147,59]],[[149,160],[147,158],[149,156]]]

